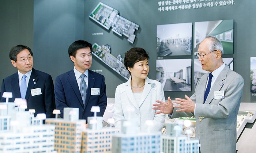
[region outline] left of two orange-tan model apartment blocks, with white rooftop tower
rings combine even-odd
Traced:
[[[64,108],[62,118],[49,118],[46,124],[55,126],[54,150],[58,153],[80,153],[82,131],[86,129],[86,120],[78,118],[79,108]]]

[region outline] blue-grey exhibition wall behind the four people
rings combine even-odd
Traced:
[[[2,1],[2,0],[1,0]],[[7,0],[6,0],[7,1]],[[5,1],[5,2],[6,2]],[[89,14],[93,8],[101,1],[117,9],[119,15],[139,24],[139,30],[135,32],[136,39],[133,44],[127,41],[126,37],[120,37],[114,34],[111,30],[99,26],[98,23],[89,19]],[[213,0],[221,1],[221,0]],[[29,1],[31,3],[31,1]],[[234,19],[234,54],[225,55],[224,57],[234,58],[234,70],[241,74],[245,80],[244,93],[242,102],[251,102],[250,93],[250,57],[256,57],[254,38],[255,31],[255,1],[249,0],[234,0],[235,4],[225,7],[200,8],[189,10],[176,10],[168,12],[158,11],[159,0],[34,0],[34,18],[31,14],[27,15],[26,11],[16,12],[15,15],[10,15],[8,5],[13,9],[17,5],[19,8],[25,9],[28,7],[25,4],[11,4],[1,6],[5,13],[1,14],[1,21],[18,20],[29,18],[26,22],[27,26],[12,27],[10,25],[1,25],[1,30],[4,30],[4,35],[1,35],[1,46],[4,46],[5,57],[1,58],[1,70],[5,73],[0,74],[0,79],[15,72],[8,58],[8,53],[11,46],[16,43],[26,43],[28,46],[33,45],[34,50],[34,68],[45,71],[52,75],[55,81],[56,76],[67,72],[73,68],[72,62],[67,55],[68,46],[78,39],[84,39],[91,43],[97,42],[99,45],[106,43],[111,45],[112,54],[117,56],[121,54],[124,57],[125,51],[131,47],[143,47],[150,55],[150,72],[148,77],[155,79],[156,76],[156,30],[158,24],[173,24],[187,23],[210,20],[227,20]],[[2,4],[2,3],[1,3]],[[32,1],[33,4],[33,1]],[[33,12],[33,10],[30,10]],[[10,19],[6,19],[10,18]],[[33,22],[34,20],[34,25]],[[32,25],[32,26],[31,26]],[[14,37],[12,31],[21,36],[30,34],[24,37]],[[28,31],[28,32],[24,32]],[[31,39],[31,31],[34,31]],[[23,33],[21,33],[23,32]],[[103,35],[93,35],[96,32]],[[8,36],[8,37],[7,37]],[[11,37],[12,36],[12,37]],[[6,42],[6,43],[5,43]],[[1,47],[2,48],[2,47]],[[194,50],[192,51],[194,52]],[[6,57],[7,56],[7,57]],[[2,56],[1,56],[2,57]],[[172,58],[192,58],[192,56],[175,56]],[[171,65],[175,66],[175,65]],[[93,58],[92,70],[102,70],[101,73],[106,78],[107,96],[114,97],[114,92],[117,85],[124,83],[126,80],[118,76],[116,72],[104,65],[97,58]],[[193,72],[193,63],[192,63]],[[193,73],[192,73],[193,78]],[[193,86],[192,86],[193,89]],[[185,94],[191,96],[191,92],[165,92],[165,96],[184,97]]]

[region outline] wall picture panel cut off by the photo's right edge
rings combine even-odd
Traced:
[[[256,101],[256,57],[251,57],[251,102]]]

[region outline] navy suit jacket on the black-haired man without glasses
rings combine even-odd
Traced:
[[[100,95],[91,95],[91,88],[99,88]],[[97,116],[103,116],[107,106],[105,78],[99,73],[89,70],[88,88],[86,95],[86,104],[83,106],[82,97],[76,81],[75,72],[72,69],[69,72],[61,74],[55,80],[55,103],[56,108],[60,110],[60,116],[63,118],[63,108],[79,108],[79,119],[86,119],[93,116],[92,106],[99,106],[100,112]]]

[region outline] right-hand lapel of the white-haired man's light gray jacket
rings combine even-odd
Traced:
[[[224,85],[223,80],[226,79],[228,71],[229,71],[229,68],[226,65],[225,68],[221,71],[221,73],[217,77],[217,79],[215,80],[214,84],[212,85],[209,95],[207,96],[207,99],[205,102],[206,104],[210,104],[212,99],[214,99],[214,91],[220,91],[220,89]]]

